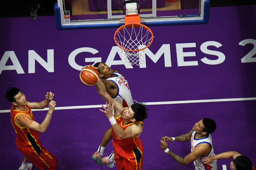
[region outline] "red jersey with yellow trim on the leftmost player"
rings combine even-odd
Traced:
[[[26,105],[26,111],[14,110],[14,105],[11,106],[11,122],[16,133],[16,142],[23,146],[30,146],[37,143],[39,138],[39,132],[29,129],[28,127],[20,127],[16,124],[15,118],[19,114],[25,114],[35,121],[33,113],[28,105]]]

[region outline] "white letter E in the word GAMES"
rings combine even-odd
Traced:
[[[177,63],[178,66],[198,66],[197,61],[184,61],[184,57],[194,57],[196,52],[183,52],[183,48],[196,47],[196,43],[176,44]]]

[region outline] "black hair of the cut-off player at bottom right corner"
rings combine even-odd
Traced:
[[[252,170],[252,161],[246,156],[238,156],[233,161],[236,170]]]

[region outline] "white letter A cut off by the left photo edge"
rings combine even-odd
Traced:
[[[11,59],[12,66],[6,66],[8,59]],[[0,74],[3,70],[16,70],[18,74],[24,74],[24,71],[20,65],[19,60],[17,59],[14,51],[6,51],[0,61]]]

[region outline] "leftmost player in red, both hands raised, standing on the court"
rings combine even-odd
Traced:
[[[16,133],[16,146],[23,154],[23,161],[19,170],[31,170],[33,165],[38,169],[56,170],[58,161],[51,152],[42,146],[39,132],[45,132],[56,106],[54,94],[47,92],[45,100],[28,102],[25,95],[16,87],[6,91],[5,97],[12,102],[11,122]],[[43,109],[49,104],[49,111],[41,124],[35,121],[31,109]],[[31,108],[31,109],[30,109]],[[30,160],[31,163],[28,163]]]

